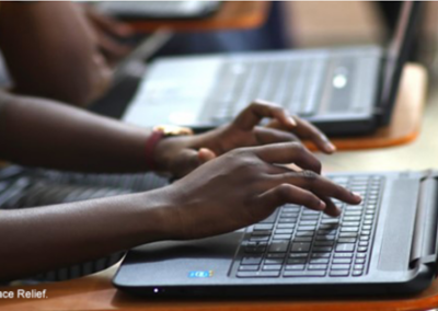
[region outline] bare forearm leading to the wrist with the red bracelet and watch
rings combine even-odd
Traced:
[[[0,93],[0,159],[82,172],[146,171],[150,131],[48,100]]]

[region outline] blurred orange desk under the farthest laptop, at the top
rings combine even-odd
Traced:
[[[199,20],[129,21],[137,31],[152,32],[159,28],[171,31],[224,31],[249,30],[262,26],[269,10],[269,1],[224,1],[210,18]]]

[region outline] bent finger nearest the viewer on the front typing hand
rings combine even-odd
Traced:
[[[301,189],[290,184],[279,184],[261,194],[257,204],[263,208],[275,209],[285,204],[303,205],[310,209],[324,210],[325,203],[309,191]]]

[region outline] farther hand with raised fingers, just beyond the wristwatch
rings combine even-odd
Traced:
[[[273,118],[266,127],[257,126],[264,118]],[[163,171],[181,177],[200,164],[240,147],[309,139],[319,150],[332,153],[336,148],[324,134],[310,123],[290,116],[284,108],[255,101],[229,125],[211,131],[162,140],[155,149],[155,162]]]

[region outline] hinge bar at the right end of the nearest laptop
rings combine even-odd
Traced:
[[[420,181],[410,266],[435,265],[438,255],[438,174],[428,171]]]

